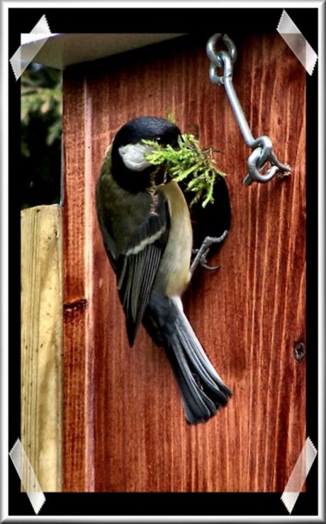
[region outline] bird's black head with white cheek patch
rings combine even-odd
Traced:
[[[113,140],[112,175],[131,192],[150,187],[150,175],[157,169],[144,156],[150,146],[142,140],[152,140],[167,146],[178,147],[179,128],[172,122],[155,116],[140,116],[122,126]]]

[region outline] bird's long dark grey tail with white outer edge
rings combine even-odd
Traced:
[[[152,295],[150,318],[159,328],[191,424],[206,422],[232,395],[203,350],[179,298]]]

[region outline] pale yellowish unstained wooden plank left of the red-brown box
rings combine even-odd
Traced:
[[[43,491],[62,491],[62,209],[21,212],[21,442]]]

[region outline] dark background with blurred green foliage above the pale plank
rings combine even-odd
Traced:
[[[21,76],[21,207],[60,202],[61,71],[31,64]]]

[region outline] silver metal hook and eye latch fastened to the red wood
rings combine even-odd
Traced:
[[[227,50],[216,50],[216,44],[219,40],[225,43]],[[227,97],[231,104],[232,110],[240,126],[245,143],[250,148],[254,149],[247,160],[248,173],[245,176],[243,183],[250,185],[252,182],[269,182],[276,173],[281,173],[282,176],[288,175],[291,168],[288,164],[282,164],[276,158],[272,151],[271,139],[268,136],[259,136],[254,138],[247,123],[245,114],[242,110],[241,104],[235,92],[232,83],[233,64],[237,60],[237,48],[232,42],[231,38],[223,33],[216,33],[207,43],[207,55],[210,60],[209,77],[213,84],[224,85]],[[218,70],[223,68],[223,75],[218,74]],[[262,170],[266,163],[271,163],[271,168],[264,173]]]

